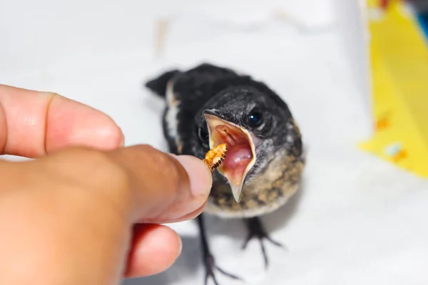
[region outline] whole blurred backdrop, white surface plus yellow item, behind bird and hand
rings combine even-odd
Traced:
[[[241,250],[239,220],[210,217],[219,266],[247,284],[428,284],[426,3],[2,0],[0,83],[91,105],[126,145],[166,151],[148,78],[203,62],[249,73],[290,106],[307,167],[300,192],[263,218],[287,250],[267,243],[265,270],[257,240]],[[170,227],[178,261],[124,285],[203,284],[195,222]]]

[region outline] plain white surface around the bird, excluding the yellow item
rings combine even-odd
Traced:
[[[126,145],[166,150],[163,102],[143,88],[145,79],[203,61],[250,73],[280,93],[300,123],[305,180],[290,204],[263,218],[287,247],[267,243],[268,271],[257,240],[240,250],[239,220],[210,218],[218,264],[248,284],[428,284],[428,182],[357,150],[370,119],[330,1],[282,1],[298,27],[268,16],[279,2],[5,0],[0,82],[79,100],[111,115]],[[175,20],[163,58],[154,58],[162,15]],[[203,284],[195,222],[170,226],[183,237],[178,261],[124,285]]]

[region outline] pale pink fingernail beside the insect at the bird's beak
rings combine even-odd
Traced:
[[[195,196],[208,196],[213,185],[213,177],[203,161],[191,155],[178,155],[175,156],[175,159],[188,172],[192,194]]]

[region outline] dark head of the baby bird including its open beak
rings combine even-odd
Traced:
[[[245,184],[265,170],[279,150],[301,144],[291,118],[287,105],[270,90],[228,88],[196,114],[195,151],[202,154],[220,143],[228,144],[218,172],[239,202]]]

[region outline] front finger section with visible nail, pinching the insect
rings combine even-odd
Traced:
[[[203,211],[213,179],[197,157],[170,155],[149,145],[123,147],[108,155],[129,177],[133,222],[180,222]]]

